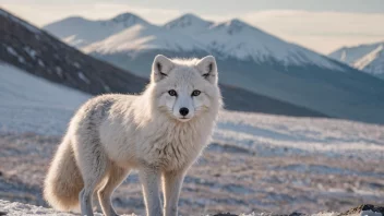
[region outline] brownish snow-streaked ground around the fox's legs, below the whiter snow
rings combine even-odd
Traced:
[[[59,141],[52,135],[2,133],[0,199],[47,206],[41,184]],[[382,161],[352,156],[261,156],[249,148],[213,143],[185,178],[180,213],[313,214],[345,212],[362,203],[384,205]],[[136,173],[116,191],[113,204],[119,213],[144,213]]]

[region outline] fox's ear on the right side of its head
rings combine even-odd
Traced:
[[[217,64],[215,57],[204,57],[196,63],[196,68],[205,80],[212,84],[217,84]]]

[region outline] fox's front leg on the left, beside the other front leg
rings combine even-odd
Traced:
[[[143,188],[146,215],[163,216],[163,206],[159,193],[159,170],[145,167],[140,170],[139,177]]]

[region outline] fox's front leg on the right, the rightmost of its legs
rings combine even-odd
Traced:
[[[163,173],[163,191],[165,202],[165,216],[178,215],[178,202],[181,185],[184,179],[183,171],[165,171]]]

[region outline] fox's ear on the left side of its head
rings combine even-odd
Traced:
[[[168,76],[168,73],[172,70],[173,62],[163,55],[155,57],[154,63],[152,64],[152,82],[159,82],[160,80]]]

